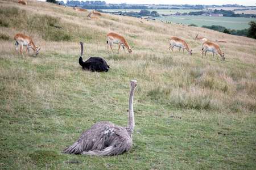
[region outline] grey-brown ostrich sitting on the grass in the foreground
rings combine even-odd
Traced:
[[[129,123],[127,127],[121,127],[112,122],[98,122],[85,130],[72,146],[61,152],[94,156],[120,155],[129,152],[133,146],[132,133],[135,126],[133,96],[137,81],[131,80],[130,85]]]

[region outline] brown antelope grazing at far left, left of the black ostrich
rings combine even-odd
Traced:
[[[23,46],[26,46],[26,49],[25,49],[25,54],[23,55],[22,53],[22,56],[26,56],[26,52],[28,51],[28,55],[30,55],[30,48],[32,48],[34,50],[34,57],[36,57],[38,55],[38,52],[41,48],[37,48],[34,44],[34,42],[32,41],[31,37],[28,37],[22,33],[17,33],[15,36],[14,36],[14,40],[15,40],[15,46],[16,46],[16,54],[18,55],[18,45],[20,45],[20,53],[22,53],[22,48]]]

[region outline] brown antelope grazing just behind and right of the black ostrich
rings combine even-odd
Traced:
[[[131,54],[133,46],[130,48],[129,44],[125,40],[125,37],[118,35],[117,33],[110,32],[107,35],[107,44],[108,44],[108,53],[109,53],[109,46],[112,49],[113,43],[118,44],[118,54],[120,46],[123,47],[123,51],[125,52],[125,47],[127,48],[128,52]],[[113,49],[112,52],[114,53]]]

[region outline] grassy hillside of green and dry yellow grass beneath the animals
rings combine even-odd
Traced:
[[[71,7],[27,3],[0,0],[1,169],[255,169],[256,40],[119,15],[91,20]],[[108,53],[109,32],[126,37],[132,55]],[[37,57],[16,56],[16,33],[32,37]],[[202,58],[196,33],[227,41],[219,44],[225,62],[212,53]],[[172,36],[193,55],[176,47],[169,54]],[[82,70],[80,41],[84,58],[102,57],[112,69]],[[131,79],[138,80],[131,151],[62,154],[96,122],[127,125]]]

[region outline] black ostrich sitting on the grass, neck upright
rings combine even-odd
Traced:
[[[109,65],[106,61],[101,57],[90,57],[87,61],[82,61],[82,53],[84,52],[84,42],[80,42],[81,44],[81,56],[79,58],[79,64],[82,66],[82,69],[90,70],[90,71],[98,71],[98,72],[107,72],[109,71]]]

